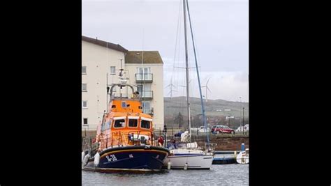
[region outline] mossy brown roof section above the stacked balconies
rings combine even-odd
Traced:
[[[146,64],[163,64],[159,51],[144,51],[144,61]],[[129,51],[125,55],[125,63],[139,63],[142,61],[142,51]]]

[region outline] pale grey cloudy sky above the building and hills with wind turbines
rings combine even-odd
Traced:
[[[208,99],[239,101],[242,97],[242,101],[247,102],[248,0],[189,0],[189,8],[202,84],[210,78],[208,86],[212,93],[208,92]],[[187,29],[189,31],[189,24]],[[172,78],[176,86],[172,96],[185,95],[186,88],[182,87],[185,70],[174,68],[185,65],[182,0],[82,0],[82,35],[97,36],[128,50],[158,50],[164,62],[164,87]],[[188,38],[189,61],[193,67],[191,35]],[[194,68],[190,70],[190,79],[191,96],[199,97]],[[170,96],[169,91],[164,88],[164,96]]]

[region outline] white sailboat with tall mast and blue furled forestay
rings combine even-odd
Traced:
[[[189,121],[189,142],[191,142],[191,114],[190,114],[190,102],[189,102],[189,58],[187,52],[187,37],[186,37],[186,5],[188,5],[186,0],[183,0],[184,8],[184,38],[185,38],[185,62],[186,62],[186,101],[187,101],[187,113]],[[187,7],[189,13],[189,7]],[[191,22],[191,20],[190,20]],[[191,26],[191,24],[190,24]],[[192,28],[191,28],[192,29]],[[192,31],[191,31],[192,33]],[[193,34],[192,40],[193,40]],[[193,49],[194,55],[196,57],[196,50],[194,47],[193,40]],[[203,110],[203,123],[205,128],[207,128],[207,122],[205,117],[205,107],[203,105],[203,96],[201,93],[200,77],[198,72],[198,63],[196,61],[196,70],[198,74],[199,90],[200,90],[200,100]],[[184,141],[184,140],[182,140]],[[212,166],[212,161],[214,158],[214,149],[211,148],[209,144],[209,136],[207,134],[207,146],[206,150],[198,148],[197,143],[189,143],[186,146],[180,148],[174,148],[170,150],[170,155],[165,159],[164,165],[168,166],[168,169],[210,169]]]

